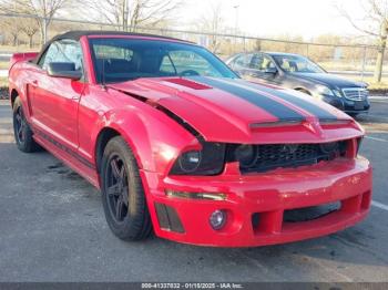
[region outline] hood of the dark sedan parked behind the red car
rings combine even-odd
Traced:
[[[297,79],[304,79],[314,83],[327,85],[329,87],[364,87],[365,83],[354,82],[330,73],[292,73]]]

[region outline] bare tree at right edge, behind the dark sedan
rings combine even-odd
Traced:
[[[361,3],[364,10],[363,19],[355,19],[344,7],[338,7],[338,10],[356,30],[377,39],[378,51],[374,81],[379,83],[381,82],[384,54],[387,48],[388,0],[364,0]]]

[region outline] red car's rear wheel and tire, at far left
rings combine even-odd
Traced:
[[[38,151],[39,145],[33,139],[33,132],[28,124],[20,97],[18,96],[13,103],[13,135],[18,148],[24,153]]]

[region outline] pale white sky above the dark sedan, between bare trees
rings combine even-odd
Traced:
[[[351,37],[359,34],[336,6],[360,19],[361,0],[185,0],[182,19],[186,23],[198,19],[210,6],[222,3],[223,18],[228,27],[255,37],[302,35],[305,40],[319,34]]]

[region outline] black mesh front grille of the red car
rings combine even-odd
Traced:
[[[253,145],[255,157],[244,166],[239,163],[242,174],[264,173],[276,168],[314,165],[323,160],[333,160],[346,155],[347,142],[326,144],[274,144]],[[236,152],[236,149],[235,149]],[[238,160],[238,157],[235,157]]]

